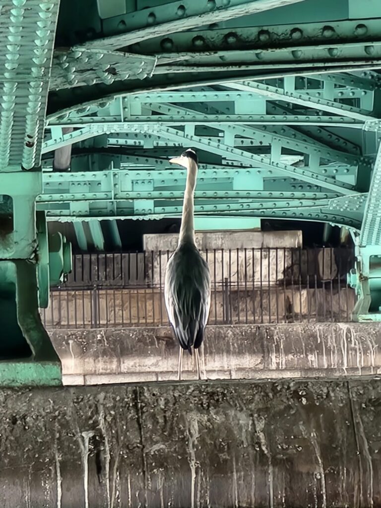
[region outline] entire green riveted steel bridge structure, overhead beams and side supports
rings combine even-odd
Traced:
[[[60,383],[39,316],[104,221],[261,219],[351,234],[353,319],[381,320],[381,4],[376,0],[0,0],[0,313],[33,352],[2,383]],[[3,326],[3,325],[2,325]]]

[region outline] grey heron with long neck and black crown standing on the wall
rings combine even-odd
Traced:
[[[198,348],[204,339],[204,331],[210,309],[210,271],[195,242],[194,193],[198,158],[192,149],[169,160],[186,169],[186,184],[182,205],[179,242],[169,258],[164,283],[164,295],[169,321],[179,341],[178,376],[181,379],[182,354],[195,350],[197,374],[201,379]]]

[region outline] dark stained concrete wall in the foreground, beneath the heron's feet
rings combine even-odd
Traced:
[[[0,390],[2,508],[381,506],[381,385]]]

